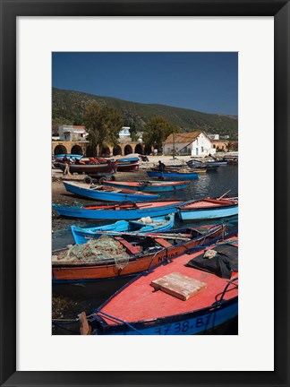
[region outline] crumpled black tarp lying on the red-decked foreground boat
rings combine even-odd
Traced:
[[[208,271],[229,280],[232,271],[238,271],[238,247],[235,245],[217,245],[213,250],[218,252],[213,258],[204,258],[202,253],[188,262],[186,266]]]

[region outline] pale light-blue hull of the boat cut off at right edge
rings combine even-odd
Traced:
[[[219,219],[235,216],[238,214],[238,205],[228,208],[183,210],[178,211],[178,216],[182,220]]]

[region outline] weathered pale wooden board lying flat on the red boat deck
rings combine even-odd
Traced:
[[[195,296],[207,287],[207,283],[194,280],[179,272],[173,272],[158,280],[153,280],[150,285],[183,301]]]

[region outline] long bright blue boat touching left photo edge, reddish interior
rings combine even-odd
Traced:
[[[53,204],[58,215],[69,218],[131,220],[175,213],[182,201],[139,202],[98,206],[62,206]]]

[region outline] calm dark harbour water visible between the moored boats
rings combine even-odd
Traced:
[[[200,174],[199,179],[193,180],[190,188],[177,191],[175,193],[164,193],[160,199],[178,199],[189,200],[199,199],[205,196],[218,197],[223,193],[230,191],[228,195],[238,195],[238,167],[225,166],[219,167],[217,172],[209,172],[207,174]],[[217,220],[211,222],[181,222],[177,217],[175,218],[175,228],[193,227],[200,224],[218,223]],[[237,217],[226,219],[229,230],[234,230],[238,227]],[[53,250],[73,244],[73,236],[70,230],[71,225],[79,227],[97,226],[99,224],[106,224],[107,222],[96,220],[83,219],[65,219],[64,228],[55,231],[52,240]],[[130,279],[119,279],[107,281],[106,285],[100,282],[90,282],[81,284],[59,284],[53,285],[53,314],[54,317],[60,318],[74,318],[82,311],[87,314],[103,304],[108,297],[113,295],[116,290],[124,286]],[[215,334],[237,334],[237,319],[226,324],[224,327],[215,331]],[[78,334],[78,325],[75,327],[65,325],[63,327],[54,327],[53,334]]]

